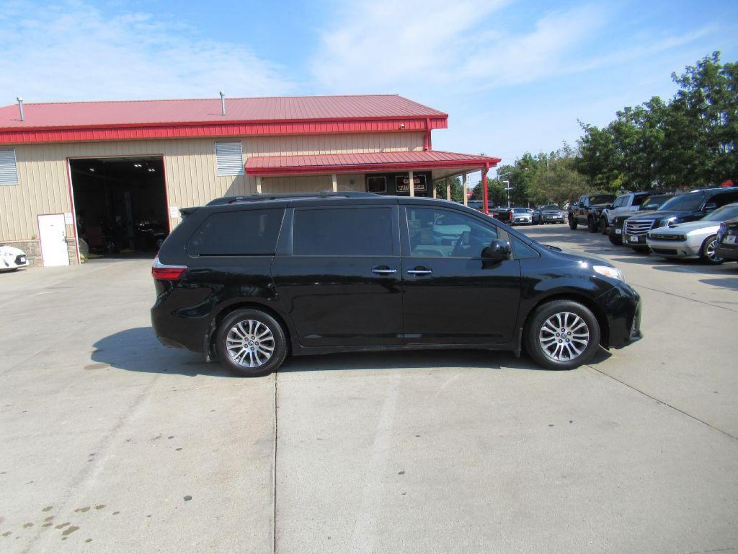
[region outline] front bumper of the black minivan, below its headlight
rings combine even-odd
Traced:
[[[643,338],[641,296],[627,283],[620,282],[597,299],[607,318],[607,348],[623,348]]]

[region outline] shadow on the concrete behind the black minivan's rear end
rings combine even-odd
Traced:
[[[94,362],[128,372],[238,377],[219,363],[206,363],[201,354],[163,346],[150,326],[125,329],[101,338],[93,346]]]

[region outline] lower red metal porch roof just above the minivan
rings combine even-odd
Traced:
[[[246,174],[262,177],[297,174],[353,173],[357,171],[423,170],[494,167],[500,158],[438,150],[258,156],[246,160]]]

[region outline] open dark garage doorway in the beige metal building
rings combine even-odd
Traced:
[[[162,157],[69,160],[86,259],[154,257],[169,233]]]

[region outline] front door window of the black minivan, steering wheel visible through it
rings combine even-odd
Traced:
[[[443,208],[407,208],[407,236],[414,258],[478,258],[497,229]]]

